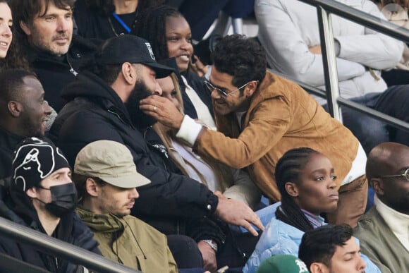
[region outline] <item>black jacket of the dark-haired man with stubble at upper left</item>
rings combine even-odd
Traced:
[[[44,98],[57,113],[65,104],[60,97],[61,90],[75,80],[80,66],[94,57],[98,42],[73,35],[70,49],[64,56],[53,56],[34,47],[25,47],[30,67],[44,87]]]

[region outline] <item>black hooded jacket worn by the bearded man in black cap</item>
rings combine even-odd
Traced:
[[[69,102],[54,121],[49,137],[72,166],[78,152],[88,143],[114,140],[128,147],[138,172],[152,181],[138,188],[140,198],[135,200],[132,212],[135,217],[171,234],[186,233],[188,228],[181,223],[188,219],[197,222],[213,214],[218,198],[201,183],[166,170],[166,164],[159,162],[142,133],[132,125],[116,92],[100,78],[82,73],[63,90],[62,96]],[[223,241],[223,235],[218,238],[214,239]]]

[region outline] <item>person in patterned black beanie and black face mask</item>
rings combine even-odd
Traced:
[[[1,217],[101,254],[92,231],[74,212],[77,191],[70,166],[59,148],[39,138],[25,138],[14,152],[12,172],[11,184],[1,187],[1,191],[8,192],[0,202]],[[80,270],[77,265],[6,236],[0,236],[0,253],[51,272]]]

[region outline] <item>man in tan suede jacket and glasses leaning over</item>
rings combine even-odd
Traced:
[[[141,101],[141,109],[178,129],[199,154],[233,168],[247,168],[272,202],[281,196],[274,180],[276,162],[295,147],[310,147],[331,159],[339,188],[338,210],[329,222],[355,226],[365,210],[366,155],[355,136],[332,119],[300,86],[266,70],[259,44],[239,35],[225,37],[212,54],[207,82],[217,130],[198,125],[159,96]]]

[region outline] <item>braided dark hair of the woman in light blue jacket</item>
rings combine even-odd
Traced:
[[[313,229],[313,226],[287,193],[286,183],[299,181],[300,173],[312,154],[319,154],[319,152],[307,147],[291,149],[283,154],[276,164],[276,184],[281,193],[281,207],[276,210],[276,218],[301,231],[309,231]]]

